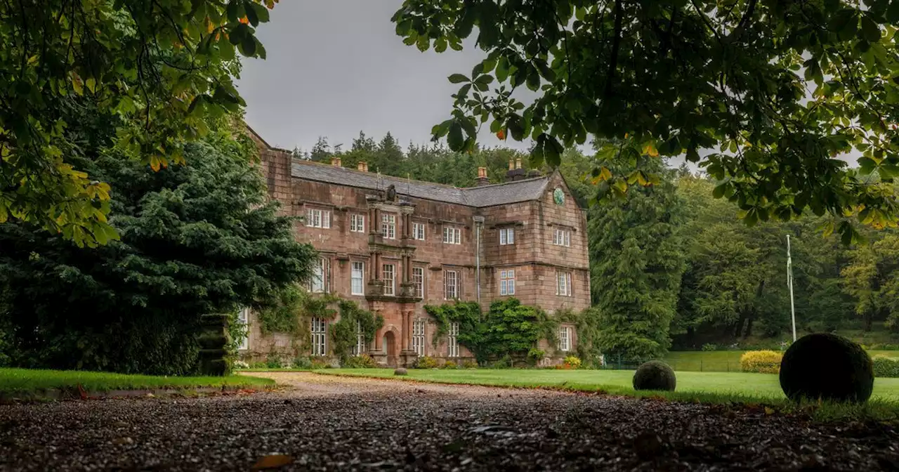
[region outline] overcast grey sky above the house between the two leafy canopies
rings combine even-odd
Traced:
[[[420,52],[396,36],[402,0],[282,0],[259,28],[266,60],[244,60],[246,120],[272,146],[309,150],[319,136],[349,149],[360,130],[426,143],[449,118],[458,85],[483,51]],[[486,127],[485,127],[486,128]],[[482,144],[503,144],[484,133]],[[509,140],[507,145],[527,148]]]

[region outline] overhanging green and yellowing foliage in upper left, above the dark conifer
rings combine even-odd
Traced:
[[[74,165],[67,108],[111,115],[123,158],[181,163],[204,118],[244,104],[236,51],[278,0],[21,0],[0,4],[0,223],[34,222],[78,245],[118,237],[110,187]],[[75,113],[77,116],[77,113]]]

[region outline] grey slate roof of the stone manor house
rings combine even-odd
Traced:
[[[446,201],[469,207],[491,207],[519,201],[538,200],[549,182],[546,176],[541,176],[516,182],[458,188],[309,161],[293,161],[290,174],[298,179],[337,183],[376,191],[384,190],[388,185],[393,184],[396,194],[399,196],[407,195],[417,199]]]

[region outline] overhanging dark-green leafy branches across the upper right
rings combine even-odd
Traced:
[[[449,76],[454,110],[432,132],[451,149],[488,124],[558,165],[590,135],[619,138],[601,153],[686,156],[750,224],[811,209],[845,242],[859,235],[848,217],[896,226],[899,1],[405,0],[393,21],[422,51],[474,36],[486,52]],[[592,175],[619,194],[656,178]]]

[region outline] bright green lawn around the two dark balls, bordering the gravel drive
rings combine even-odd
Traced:
[[[628,370],[415,370],[395,377],[389,369],[325,369],[325,375],[398,378],[406,381],[483,385],[493,387],[548,388],[601,393],[612,396],[664,399],[675,402],[763,408],[766,413],[801,414],[816,421],[899,421],[899,378],[877,378],[874,396],[867,404],[788,401],[771,374],[743,372],[678,372],[674,392],[636,391],[634,372]]]

